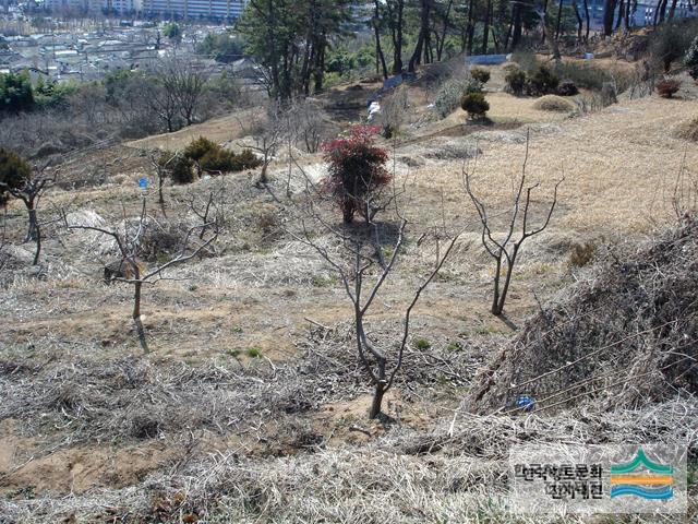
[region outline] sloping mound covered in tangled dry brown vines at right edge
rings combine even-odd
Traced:
[[[479,412],[637,407],[698,393],[698,221],[610,249],[476,378]]]

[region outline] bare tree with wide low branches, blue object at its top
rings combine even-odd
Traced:
[[[124,216],[124,228],[118,230],[118,228],[106,229],[103,227],[87,226],[82,224],[69,224],[68,215],[63,212],[63,222],[68,229],[86,229],[97,231],[108,237],[111,237],[117,245],[119,252],[119,260],[117,264],[112,264],[105,270],[105,279],[107,282],[123,282],[133,286],[133,311],[132,319],[136,327],[139,335],[139,342],[144,352],[148,352],[148,345],[145,337],[145,330],[141,320],[141,294],[144,284],[154,285],[157,282],[165,279],[166,270],[182,264],[205,250],[210,243],[213,243],[218,237],[217,228],[214,228],[214,233],[208,239],[196,240],[195,231],[201,228],[209,228],[213,223],[202,224],[189,228],[184,238],[180,242],[178,253],[172,257],[168,262],[159,264],[155,267],[146,267],[145,264],[139,260],[137,252],[140,247],[140,240],[145,233],[146,223],[149,217],[146,213],[146,202],[143,200],[143,206],[141,209],[141,215],[137,218],[136,231],[134,235],[129,234],[129,227]],[[109,274],[107,274],[107,270]]]

